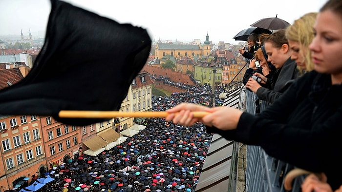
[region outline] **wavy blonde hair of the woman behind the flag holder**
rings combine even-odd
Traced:
[[[309,45],[314,38],[313,26],[315,24],[317,17],[316,12],[310,12],[286,28],[286,38],[288,40],[293,40],[299,43],[301,47],[299,54],[303,57],[305,62],[306,71],[312,71],[314,69],[314,63],[311,58],[311,51],[309,50]],[[302,49],[306,49],[305,54]]]

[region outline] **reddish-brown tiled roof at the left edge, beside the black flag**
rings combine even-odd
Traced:
[[[9,83],[14,85],[21,81],[23,78],[24,77],[22,76],[19,68],[0,70],[0,89],[9,87]]]

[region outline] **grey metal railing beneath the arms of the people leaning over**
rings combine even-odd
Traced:
[[[241,93],[242,94],[242,93]],[[256,113],[256,95],[246,91],[246,111]],[[268,107],[266,101],[261,101],[260,111]],[[294,166],[273,158],[258,146],[247,145],[247,169],[246,191],[247,192],[285,192],[283,188],[286,173]],[[296,178],[293,182],[292,192],[300,192],[300,184],[304,176]]]

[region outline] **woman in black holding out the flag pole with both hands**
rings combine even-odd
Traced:
[[[260,114],[232,107],[182,103],[167,110],[166,120],[185,126],[200,121],[207,132],[261,146],[281,161],[310,172],[323,172],[331,189],[339,189],[342,185],[342,1],[328,0],[313,29],[315,37],[309,49],[315,70],[305,73]],[[193,112],[207,114],[193,117]]]

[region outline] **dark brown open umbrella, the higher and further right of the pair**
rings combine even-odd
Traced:
[[[289,26],[290,23],[278,18],[278,14],[275,18],[264,18],[256,21],[255,23],[251,24],[254,27],[260,27],[264,29],[271,29],[271,30],[278,30],[278,29],[285,29]]]

